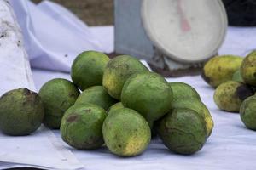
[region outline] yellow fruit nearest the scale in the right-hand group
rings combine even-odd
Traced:
[[[202,78],[213,88],[217,88],[222,82],[232,80],[233,74],[240,68],[242,59],[234,55],[213,57],[204,65]]]

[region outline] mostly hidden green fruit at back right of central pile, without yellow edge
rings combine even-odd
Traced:
[[[197,99],[201,101],[200,95],[189,84],[184,82],[169,82],[172,88],[172,99]]]

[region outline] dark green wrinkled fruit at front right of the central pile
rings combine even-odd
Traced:
[[[194,154],[207,141],[201,116],[189,109],[172,110],[156,123],[156,127],[166,147],[178,154]]]

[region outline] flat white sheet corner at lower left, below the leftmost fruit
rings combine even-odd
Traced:
[[[83,166],[63,147],[55,135],[41,127],[29,136],[11,137],[0,133],[0,169],[38,167],[44,169],[80,169]]]

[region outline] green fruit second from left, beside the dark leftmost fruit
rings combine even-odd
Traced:
[[[73,82],[66,79],[55,78],[46,82],[39,91],[44,103],[44,125],[54,129],[60,128],[64,112],[75,103],[79,94],[79,89]]]

